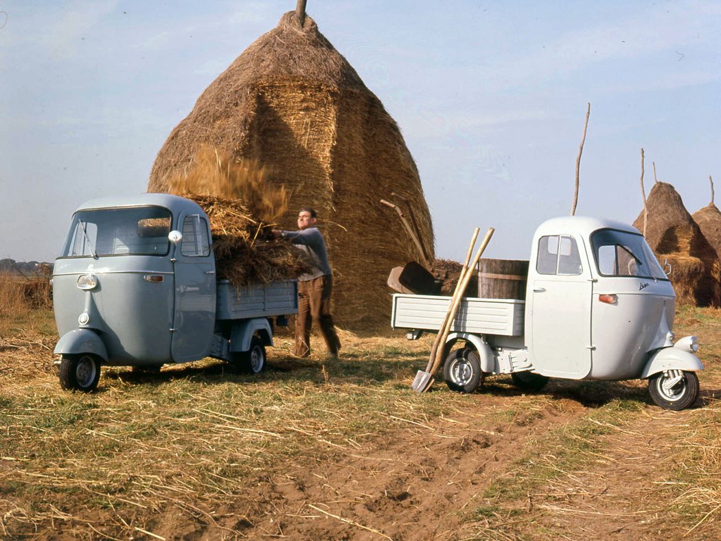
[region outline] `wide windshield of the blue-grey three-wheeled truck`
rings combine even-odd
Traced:
[[[79,211],[61,258],[167,255],[170,211],[154,206]]]

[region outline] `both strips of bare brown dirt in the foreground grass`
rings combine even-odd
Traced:
[[[482,426],[477,418],[506,405],[508,397],[475,398],[472,408],[456,415],[409,421],[353,451],[329,448],[327,458],[315,457],[314,467],[289,467],[229,501],[213,526],[172,513],[156,517],[152,531],[167,539],[214,539],[236,530],[248,537],[316,540],[651,540],[688,530],[674,524],[655,494],[677,443],[665,433],[675,432],[694,410],[674,413],[651,405],[629,426],[604,436],[608,450],[583,472],[567,472],[516,502],[522,519],[508,524],[507,533],[497,524],[488,528],[464,519],[481,503],[479,494],[513,470],[518,449],[595,407],[560,395],[540,411]]]

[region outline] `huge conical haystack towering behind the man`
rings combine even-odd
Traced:
[[[379,200],[396,192],[410,201],[432,259],[428,206],[398,126],[310,17],[301,27],[295,12],[284,14],[205,89],[159,151],[149,191],[166,191],[203,144],[256,159],[291,190],[283,229],[296,229],[298,207],[317,208],[336,319],[387,324],[388,273],[419,256]]]

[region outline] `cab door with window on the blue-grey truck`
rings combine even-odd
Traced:
[[[175,308],[171,353],[177,363],[208,355],[216,322],[216,264],[208,221],[181,214],[175,248]]]

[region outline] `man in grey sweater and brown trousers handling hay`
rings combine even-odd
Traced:
[[[293,242],[307,256],[311,270],[298,276],[298,317],[296,318],[296,345],[293,354],[307,357],[311,353],[311,324],[318,322],[332,359],[337,359],[340,340],[330,315],[330,294],[333,278],[323,234],[315,226],[317,213],[313,208],[303,207],[298,212],[298,231],[273,229],[276,238]]]

